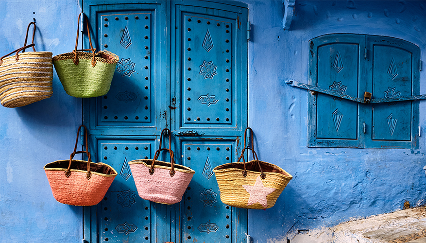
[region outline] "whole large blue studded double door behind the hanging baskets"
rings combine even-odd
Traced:
[[[222,204],[213,168],[236,161],[247,126],[247,8],[126,2],[84,1],[98,50],[120,58],[110,91],[84,100],[92,154],[119,173],[85,208],[85,240],[241,242],[247,211]],[[141,199],[128,165],[152,158],[166,127],[176,162],[196,171],[175,205]]]

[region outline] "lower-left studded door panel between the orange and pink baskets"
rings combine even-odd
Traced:
[[[155,138],[97,139],[98,158],[118,173],[105,197],[97,205],[100,240],[109,242],[141,242],[151,238],[151,202],[137,194],[128,162],[151,158]]]

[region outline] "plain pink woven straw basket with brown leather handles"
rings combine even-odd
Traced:
[[[169,149],[161,148],[165,131],[169,133]],[[129,162],[137,192],[145,200],[162,204],[180,202],[195,173],[186,166],[174,163],[170,134],[171,132],[167,128],[161,132],[160,147],[155,151],[154,159],[138,159]],[[161,151],[170,153],[171,163],[157,160]]]

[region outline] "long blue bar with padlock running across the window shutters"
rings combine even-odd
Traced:
[[[286,84],[290,85],[291,87],[298,87],[298,88],[309,90],[311,91],[312,95],[316,95],[317,93],[322,93],[322,94],[331,95],[331,96],[339,97],[339,98],[350,100],[350,101],[355,101],[362,104],[426,100],[425,94],[400,96],[400,97],[392,97],[392,98],[371,99],[372,95],[369,92],[365,92],[364,93],[365,96],[363,98],[359,98],[359,97],[343,94],[339,91],[333,91],[333,90],[324,89],[324,88],[320,88],[320,87],[316,87],[312,85],[307,85],[294,80],[288,80],[286,81]]]

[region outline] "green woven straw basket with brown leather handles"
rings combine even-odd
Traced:
[[[78,20],[80,21],[80,15]],[[90,49],[77,50],[79,27],[75,49],[53,57],[53,65],[68,95],[78,98],[101,96],[108,93],[119,57],[108,51],[95,53],[92,46],[88,19],[85,17]],[[78,52],[91,51],[91,52]]]

